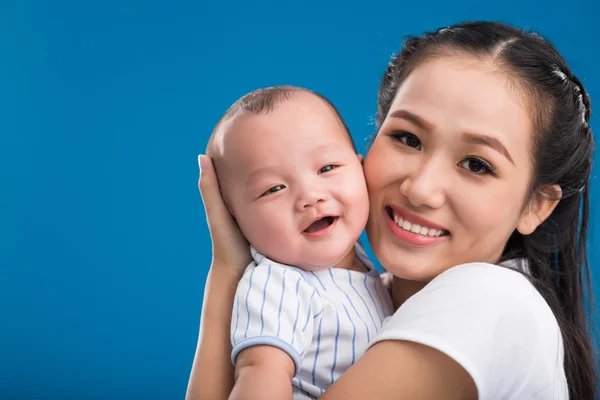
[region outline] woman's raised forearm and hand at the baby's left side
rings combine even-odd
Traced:
[[[198,345],[186,399],[227,399],[233,387],[230,324],[235,290],[251,260],[248,242],[229,214],[211,160],[199,156],[198,187],[212,241],[213,262],[206,280]]]

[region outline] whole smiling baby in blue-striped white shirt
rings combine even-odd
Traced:
[[[290,86],[239,99],[207,154],[254,258],[234,302],[232,397],[319,397],[392,313],[357,243],[362,157],[327,99]]]

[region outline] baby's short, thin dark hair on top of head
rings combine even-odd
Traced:
[[[342,125],[344,125],[344,129],[348,133],[350,143],[352,143],[352,147],[354,148],[354,151],[356,151],[356,146],[354,145],[354,141],[352,140],[350,130],[348,129],[348,126],[346,126],[342,115],[331,101],[329,101],[325,96],[312,90],[301,88],[298,86],[283,85],[256,89],[244,95],[235,103],[233,103],[215,126],[210,140],[208,141],[206,153],[208,155],[211,155],[211,153],[215,151],[215,143],[213,139],[215,135],[219,132],[219,129],[221,128],[224,122],[241,115],[266,115],[274,111],[277,108],[277,106],[281,105],[282,103],[288,100],[291,100],[294,97],[294,95],[301,92],[313,94],[319,99],[323,100],[329,107],[331,107],[331,109],[338,117]]]

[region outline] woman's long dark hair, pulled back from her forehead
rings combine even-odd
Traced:
[[[528,275],[561,329],[569,397],[592,400],[598,381],[591,339],[593,316],[586,313],[585,304],[587,299],[594,305],[586,251],[594,148],[589,96],[558,51],[541,36],[500,23],[469,22],[407,38],[381,81],[378,127],[411,71],[426,60],[444,56],[493,62],[528,100],[535,132],[526,200],[550,185],[559,185],[562,197],[533,234],[513,233],[502,259],[528,263]],[[549,194],[546,190],[541,195]]]

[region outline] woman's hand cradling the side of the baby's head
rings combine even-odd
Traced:
[[[241,275],[251,261],[248,241],[225,206],[212,160],[199,155],[198,165],[198,188],[212,240],[212,266],[231,268],[232,272]]]

